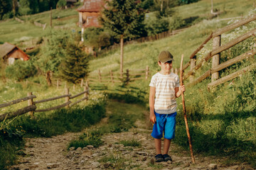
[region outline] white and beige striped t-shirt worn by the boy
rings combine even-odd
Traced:
[[[178,75],[154,74],[149,86],[156,88],[154,111],[159,114],[175,113],[177,108],[175,88],[180,86]]]

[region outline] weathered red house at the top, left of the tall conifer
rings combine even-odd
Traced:
[[[100,11],[102,11],[104,5],[104,0],[83,0],[83,6],[77,9],[79,12],[79,26],[82,29],[82,35],[85,28],[101,27],[98,17],[100,16]]]

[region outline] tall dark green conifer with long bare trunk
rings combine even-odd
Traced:
[[[120,72],[122,72],[124,38],[136,38],[146,33],[143,24],[144,11],[139,6],[140,1],[112,0],[106,3],[100,21],[102,26],[120,40]]]

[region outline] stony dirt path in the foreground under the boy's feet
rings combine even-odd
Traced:
[[[107,123],[107,119],[102,123]],[[189,152],[174,144],[171,144],[169,152],[173,162],[154,163],[151,130],[147,130],[145,123],[140,121],[136,125],[137,128],[129,132],[104,135],[104,145],[97,148],[87,146],[67,150],[70,140],[82,132],[68,132],[50,138],[26,138],[26,155],[20,157],[18,164],[10,169],[252,169],[247,164],[226,166],[223,158],[201,157],[198,154],[196,164],[191,164]],[[142,147],[118,145],[122,140],[139,141]]]

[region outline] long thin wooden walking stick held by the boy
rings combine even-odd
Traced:
[[[181,55],[181,75],[180,75],[180,81],[181,81],[181,86],[183,86],[183,79],[182,79],[182,74],[183,74],[183,55]],[[195,164],[195,157],[193,156],[193,149],[192,149],[192,144],[191,144],[191,136],[189,134],[189,129],[188,129],[188,120],[186,118],[186,107],[185,107],[185,98],[184,98],[184,94],[183,92],[181,92],[181,98],[182,98],[182,107],[183,107],[183,113],[184,113],[184,120],[185,120],[185,125],[186,125],[186,132],[188,135],[188,143],[189,143],[189,148],[191,151],[191,159],[192,159],[192,163]]]

